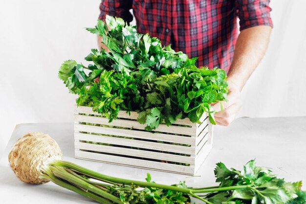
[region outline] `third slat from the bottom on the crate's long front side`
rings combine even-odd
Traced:
[[[111,136],[97,136],[97,135],[83,134],[83,133],[75,133],[74,138],[76,140],[117,144],[123,146],[138,147],[143,149],[153,149],[159,151],[195,155],[195,148],[181,146],[181,145],[164,144],[158,142],[141,141],[136,139],[126,139],[126,138],[118,138]]]

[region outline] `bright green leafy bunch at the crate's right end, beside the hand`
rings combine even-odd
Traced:
[[[210,104],[226,99],[225,71],[186,64],[156,79],[154,91],[146,97],[146,110],[139,113],[140,123],[153,128],[161,122],[170,125],[182,116],[199,122],[208,113],[210,122],[216,124]]]

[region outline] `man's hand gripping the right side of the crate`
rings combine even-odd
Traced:
[[[214,114],[216,123],[222,126],[230,125],[238,114],[242,102],[240,97],[240,89],[234,82],[228,80],[227,102],[221,101],[223,111],[221,111],[220,103],[216,103],[213,108],[217,113]]]

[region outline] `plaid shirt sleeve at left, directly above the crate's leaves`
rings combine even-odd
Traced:
[[[102,0],[100,3],[100,20],[105,20],[105,16],[120,17],[130,23],[133,16],[130,13],[132,0]]]

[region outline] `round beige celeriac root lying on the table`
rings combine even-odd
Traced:
[[[44,167],[54,159],[62,159],[57,142],[44,133],[28,133],[12,147],[8,160],[18,179],[26,183],[41,184],[48,180],[41,177]]]

